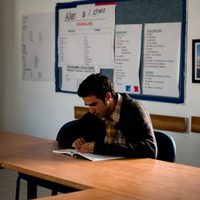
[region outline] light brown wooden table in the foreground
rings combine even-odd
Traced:
[[[200,168],[154,159],[92,162],[52,153],[55,141],[0,132],[7,169],[79,189],[42,199],[200,199]]]

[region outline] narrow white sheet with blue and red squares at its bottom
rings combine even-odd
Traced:
[[[141,24],[116,25],[114,86],[118,92],[140,94]]]

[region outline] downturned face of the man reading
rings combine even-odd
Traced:
[[[83,101],[86,106],[89,107],[90,113],[95,115],[98,118],[104,117],[107,114],[109,103],[101,99],[98,99],[96,96],[84,97]]]

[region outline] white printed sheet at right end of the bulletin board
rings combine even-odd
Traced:
[[[180,38],[181,23],[145,24],[143,94],[179,96]]]

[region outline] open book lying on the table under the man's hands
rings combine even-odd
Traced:
[[[81,158],[85,158],[91,161],[113,160],[113,159],[123,158],[123,157],[117,157],[117,156],[105,156],[105,155],[98,155],[98,154],[92,154],[92,153],[81,153],[81,152],[76,151],[75,149],[58,149],[58,150],[53,150],[53,153],[65,154],[65,155],[72,156],[74,158],[81,157]]]

